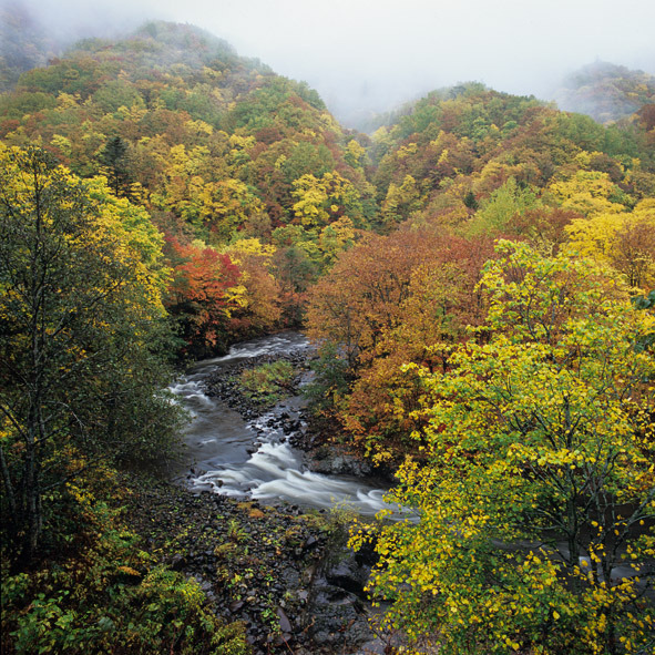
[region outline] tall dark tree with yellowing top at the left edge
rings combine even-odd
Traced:
[[[98,458],[165,454],[177,411],[161,392],[161,237],[145,211],[42,151],[0,160],[2,502],[29,560],[47,500]]]

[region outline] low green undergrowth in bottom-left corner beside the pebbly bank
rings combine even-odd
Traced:
[[[217,620],[194,580],[140,550],[136,535],[89,487],[68,491],[83,545],[30,573],[3,567],[3,653],[248,652],[243,626]]]

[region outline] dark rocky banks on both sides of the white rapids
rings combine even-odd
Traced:
[[[311,376],[314,351],[301,345],[282,355],[259,355],[223,364],[203,383],[204,393],[236,410],[252,427],[255,452],[265,433],[301,450],[306,469],[324,474],[370,475],[354,453],[334,443],[300,399]],[[286,400],[247,392],[245,370],[279,359],[294,375],[280,386]],[[294,410],[287,410],[288,405]],[[190,479],[198,471],[192,471]],[[203,471],[199,472],[201,474]],[[163,561],[194,576],[228,621],[242,621],[255,654],[391,653],[371,632],[373,611],[364,587],[371,553],[346,546],[352,519],[345,510],[307,511],[288,503],[259,504],[197,488],[156,483],[132,494],[141,533]]]

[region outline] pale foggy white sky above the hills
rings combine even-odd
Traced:
[[[8,1],[8,0],[0,0]],[[469,80],[547,98],[596,59],[655,74],[655,0],[24,0],[52,30],[197,24],[341,117]]]

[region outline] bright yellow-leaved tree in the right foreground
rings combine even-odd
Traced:
[[[420,371],[424,464],[391,494],[416,521],[381,529],[370,589],[444,654],[649,653],[655,316],[590,260],[499,250],[490,342]]]

